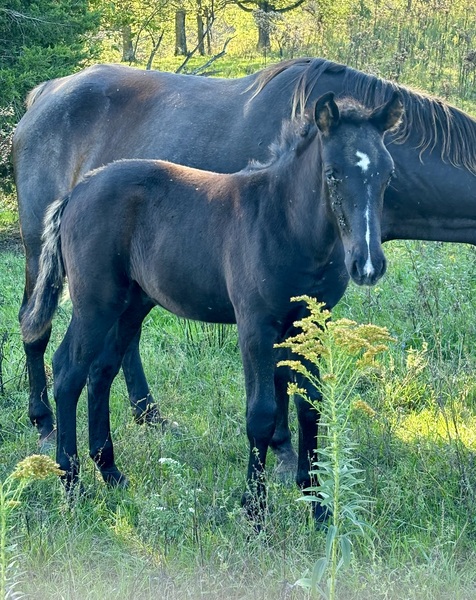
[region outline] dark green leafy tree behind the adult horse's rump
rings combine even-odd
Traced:
[[[24,98],[46,79],[96,56],[97,13],[87,0],[9,0],[0,6],[0,182],[10,183],[9,141]]]

